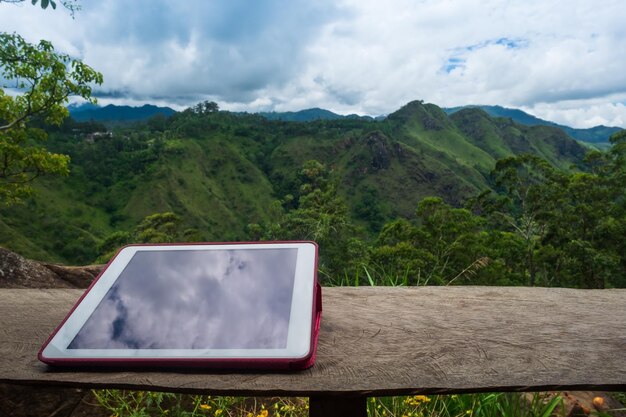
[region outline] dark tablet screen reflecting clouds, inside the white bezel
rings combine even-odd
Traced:
[[[297,249],[139,251],[68,349],[284,349]]]

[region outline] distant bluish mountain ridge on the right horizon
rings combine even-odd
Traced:
[[[540,119],[531,114],[525,113],[518,109],[509,109],[501,106],[462,106],[450,107],[444,109],[447,114],[454,114],[465,108],[480,108],[492,117],[505,117],[527,126],[553,126],[562,129],[565,133],[581,142],[589,143],[600,149],[607,149],[611,146],[609,137],[622,130],[619,127],[595,126],[588,129],[576,129],[569,126],[560,125],[554,122]]]

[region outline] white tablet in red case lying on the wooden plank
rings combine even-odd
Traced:
[[[48,338],[50,365],[300,369],[321,318],[314,242],[130,245]]]

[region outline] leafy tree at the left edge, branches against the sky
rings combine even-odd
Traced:
[[[102,84],[102,74],[50,42],[33,45],[7,33],[0,33],[0,71],[0,203],[10,205],[32,193],[35,178],[68,174],[69,158],[41,146],[47,135],[34,125],[60,125],[71,96],[95,103],[91,84]]]

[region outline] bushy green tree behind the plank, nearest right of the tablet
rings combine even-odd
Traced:
[[[504,236],[486,229],[483,218],[436,197],[420,201],[416,214],[414,222],[399,219],[383,227],[370,256],[375,282],[400,275],[410,285],[502,283],[498,274],[510,254],[496,250],[500,245],[493,243]],[[519,283],[515,274],[506,277],[506,284]]]

